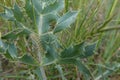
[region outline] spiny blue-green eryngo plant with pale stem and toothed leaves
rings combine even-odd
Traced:
[[[5,20],[13,21],[16,25],[15,29],[2,35],[0,40],[1,53],[11,61],[24,63],[32,67],[33,75],[37,75],[35,78],[38,80],[46,80],[45,69],[43,66],[49,66],[54,64],[63,80],[61,64],[74,64],[78,67],[86,77],[91,77],[91,73],[84,66],[81,59],[91,56],[95,49],[95,44],[85,45],[84,42],[77,45],[72,44],[68,48],[63,48],[60,44],[56,33],[59,33],[76,20],[77,11],[68,11],[63,15],[59,15],[60,11],[64,8],[64,0],[27,0],[25,2],[25,12],[20,9],[17,3],[14,3],[13,8],[8,8],[1,5],[4,8],[4,12],[1,13],[1,17]],[[33,30],[22,23],[22,19],[27,15],[27,18],[32,20],[34,24]],[[25,41],[32,40],[26,44],[20,46],[20,38]],[[32,39],[30,39],[32,38]],[[24,40],[22,41],[24,42]],[[29,44],[35,46],[31,52],[23,50],[22,47],[29,47]],[[32,49],[32,48],[30,48]],[[32,55],[36,55],[35,57]],[[41,75],[40,75],[41,73]]]

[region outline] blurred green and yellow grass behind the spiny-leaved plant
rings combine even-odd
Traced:
[[[17,2],[25,14],[23,7],[24,0],[0,0],[0,4],[7,7],[13,7]],[[120,0],[65,0],[65,9],[60,13],[64,14],[69,10],[77,10],[79,14],[71,28],[64,30],[59,34],[59,39],[64,47],[68,47],[72,43],[98,42],[95,55],[83,60],[91,73],[95,76],[95,80],[120,80]],[[0,12],[4,9],[0,7]],[[34,29],[32,21],[24,15],[21,22]],[[10,21],[3,20],[0,17],[0,34],[4,35],[15,29],[15,24]],[[34,38],[34,36],[32,36]],[[18,39],[17,45],[23,47],[30,41],[22,41]],[[31,44],[27,44],[32,48]],[[29,51],[29,48],[28,51]],[[32,54],[32,53],[31,53]],[[32,54],[34,56],[34,54]],[[60,75],[54,65],[45,67],[48,80],[61,80]],[[77,72],[73,65],[62,65],[64,75],[68,80],[84,80],[82,75]],[[26,73],[29,72],[29,73]],[[24,77],[19,76],[24,74]],[[0,54],[0,80],[26,80],[28,76],[32,76],[31,67],[19,64],[15,61],[9,61]],[[16,76],[15,76],[16,75]],[[4,79],[2,79],[4,78]],[[19,79],[23,78],[23,79]],[[80,79],[81,78],[81,79]],[[32,79],[30,79],[32,80]]]

